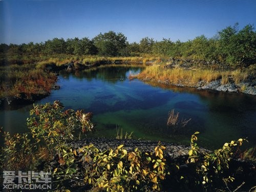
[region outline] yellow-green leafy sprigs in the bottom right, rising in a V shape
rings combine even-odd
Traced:
[[[199,147],[196,143],[197,134],[199,132],[191,136],[191,150],[188,152],[188,163],[195,164],[195,171],[199,177],[195,182],[198,185],[202,185],[206,190],[213,187],[216,181],[222,181],[224,184],[232,182],[234,180],[232,175],[226,178],[225,172],[229,168],[231,158],[234,157],[233,152],[237,151],[237,148],[247,140],[231,141],[230,143],[225,143],[222,148],[215,150],[213,153],[199,155]]]

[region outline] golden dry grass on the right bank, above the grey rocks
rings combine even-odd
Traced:
[[[140,74],[135,76],[140,80],[152,82],[165,82],[170,84],[182,84],[183,86],[198,87],[198,83],[221,79],[222,84],[235,82],[236,84],[246,80],[252,72],[248,70],[219,71],[213,69],[186,69],[175,67],[165,69],[164,65],[153,65],[147,67]]]

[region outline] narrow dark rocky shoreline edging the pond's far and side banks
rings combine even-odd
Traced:
[[[95,62],[93,64],[88,63],[87,65],[83,65],[79,62],[70,62],[66,63],[64,65],[58,66],[56,63],[49,63],[44,66],[45,70],[49,72],[55,73],[55,77],[58,76],[59,71],[66,70],[68,72],[73,71],[80,71],[84,69],[90,69],[93,67],[99,67],[99,66],[106,66],[106,65],[152,65],[154,61],[132,61],[132,60],[104,60]],[[153,64],[154,65],[154,64]],[[139,74],[140,75],[140,74]],[[255,80],[251,82],[239,82],[238,84],[234,82],[228,82],[226,84],[222,84],[221,79],[213,80],[210,82],[206,82],[204,80],[201,80],[197,82],[195,86],[189,86],[185,83],[182,83],[182,80],[180,80],[179,83],[172,83],[169,79],[160,80],[157,78],[150,78],[150,77],[138,77],[139,75],[130,76],[129,79],[132,80],[134,78],[137,78],[144,82],[152,82],[152,83],[159,83],[164,84],[166,86],[177,86],[177,87],[184,87],[184,88],[197,88],[198,90],[213,90],[218,92],[232,92],[232,93],[244,93],[248,95],[256,95],[256,82]],[[56,84],[57,78],[55,83],[52,86],[51,90],[59,89],[59,86]],[[12,109],[12,108],[19,108],[20,106],[24,106],[27,104],[31,104],[37,100],[41,100],[47,96],[49,96],[51,92],[43,92],[43,93],[35,93],[31,94],[30,97],[27,97],[24,93],[20,93],[19,96],[10,96],[10,97],[2,97],[0,98],[0,109]]]

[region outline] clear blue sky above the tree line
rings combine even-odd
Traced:
[[[143,37],[186,41],[256,22],[255,0],[0,0],[0,42],[22,44],[89,37],[113,30],[129,42]]]

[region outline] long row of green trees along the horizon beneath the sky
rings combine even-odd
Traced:
[[[218,61],[227,65],[251,65],[256,63],[256,31],[253,25],[238,29],[238,24],[228,26],[214,37],[204,35],[182,42],[163,38],[161,41],[144,37],[140,42],[128,42],[122,33],[109,31],[92,39],[53,38],[41,43],[1,44],[0,53],[12,55],[99,55],[99,56],[142,56],[144,54],[178,57],[188,60]]]

